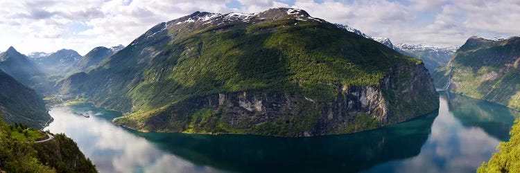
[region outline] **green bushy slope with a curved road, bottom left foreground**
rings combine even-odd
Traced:
[[[64,134],[33,143],[45,134],[26,125],[8,125],[0,118],[0,170],[7,172],[96,172],[76,143]],[[59,145],[59,147],[49,147]]]

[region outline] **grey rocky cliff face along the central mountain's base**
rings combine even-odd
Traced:
[[[438,109],[433,80],[422,64],[388,74],[380,87],[340,85],[330,102],[257,91],[220,93],[175,103],[146,119],[123,116],[114,122],[141,131],[319,136],[374,129]]]

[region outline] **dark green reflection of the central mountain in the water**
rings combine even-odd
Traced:
[[[314,138],[136,133],[197,165],[232,172],[358,172],[419,154],[437,113],[365,133]]]

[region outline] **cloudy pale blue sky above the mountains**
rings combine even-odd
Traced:
[[[154,26],[207,12],[286,7],[345,24],[395,44],[460,46],[466,39],[520,35],[520,0],[0,0],[0,51],[85,55],[96,46],[130,44]]]

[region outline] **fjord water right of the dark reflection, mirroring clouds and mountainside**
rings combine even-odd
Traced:
[[[509,138],[513,115],[514,111],[498,104],[441,93],[439,116],[420,154],[365,172],[475,172],[495,152],[499,139]]]

